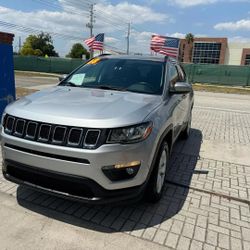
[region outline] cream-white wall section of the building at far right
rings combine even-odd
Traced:
[[[228,43],[225,64],[240,65],[244,48],[250,48],[250,43]]]

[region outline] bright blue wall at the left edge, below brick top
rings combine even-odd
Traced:
[[[0,41],[0,117],[5,107],[15,99],[13,47]]]

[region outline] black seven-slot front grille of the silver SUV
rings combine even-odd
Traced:
[[[97,148],[104,131],[30,121],[6,115],[4,132],[27,140],[60,146]]]

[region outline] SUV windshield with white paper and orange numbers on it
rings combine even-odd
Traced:
[[[60,85],[161,95],[162,75],[162,62],[94,58]]]

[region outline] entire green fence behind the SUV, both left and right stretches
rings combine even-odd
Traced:
[[[14,56],[15,70],[68,74],[83,63],[80,59]],[[250,66],[184,64],[192,83],[250,86]]]

